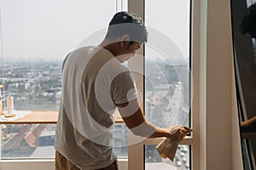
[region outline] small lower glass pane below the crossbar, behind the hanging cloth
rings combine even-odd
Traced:
[[[170,169],[170,170],[188,170],[190,169],[190,149],[189,145],[178,145],[176,156],[173,161],[162,159],[155,145],[145,146],[145,169]]]

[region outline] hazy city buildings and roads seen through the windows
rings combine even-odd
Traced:
[[[178,63],[146,63],[145,116],[159,127],[189,126],[189,68]],[[5,62],[2,77],[2,93],[14,97],[16,111],[58,111],[61,61]],[[54,158],[55,124],[1,124],[1,130],[2,159]],[[116,123],[113,135],[116,155],[126,157],[125,123]],[[155,145],[145,147],[146,167],[161,162],[169,168],[189,169],[189,157],[189,145],[178,146],[173,162],[160,158]]]

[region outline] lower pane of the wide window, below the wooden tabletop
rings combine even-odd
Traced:
[[[0,131],[2,159],[55,157],[55,124],[2,124]],[[126,157],[125,123],[116,123],[113,135],[116,155]]]

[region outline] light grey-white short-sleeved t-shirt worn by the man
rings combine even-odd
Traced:
[[[73,51],[63,63],[55,150],[80,169],[108,167],[116,105],[137,99],[130,71],[104,48]]]

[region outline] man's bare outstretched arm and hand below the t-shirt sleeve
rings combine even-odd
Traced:
[[[169,139],[181,139],[182,131],[171,134],[167,128],[156,127],[151,122],[148,122],[143,114],[143,111],[137,101],[132,100],[124,104],[116,104],[119,113],[122,116],[126,126],[132,133],[145,138],[160,138],[166,137]]]

